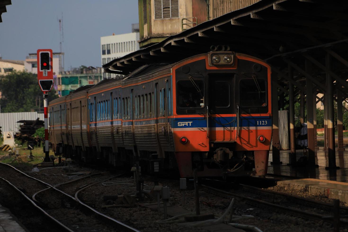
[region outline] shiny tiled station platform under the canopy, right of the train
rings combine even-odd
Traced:
[[[303,156],[303,150],[296,150],[296,160]],[[292,179],[277,181],[277,185],[287,189],[302,190],[314,195],[322,195],[331,199],[339,199],[348,204],[348,149],[336,152],[336,166],[339,169],[325,169],[329,166],[327,152],[322,147],[316,151],[315,166],[291,166],[289,151],[280,152],[281,165],[268,166],[268,174],[288,176]]]

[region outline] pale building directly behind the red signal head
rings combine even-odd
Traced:
[[[29,53],[24,62],[25,71],[38,73],[37,53]],[[64,72],[64,53],[53,53],[53,75]]]

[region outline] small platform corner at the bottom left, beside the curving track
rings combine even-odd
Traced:
[[[0,232],[25,232],[26,230],[18,222],[11,212],[0,205]]]

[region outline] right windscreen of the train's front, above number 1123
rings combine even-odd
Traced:
[[[265,107],[266,80],[261,78],[244,79],[239,82],[239,103],[244,107]]]

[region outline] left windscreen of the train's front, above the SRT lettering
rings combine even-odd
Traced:
[[[190,80],[181,80],[176,83],[176,104],[180,108],[203,108],[200,105],[204,96],[204,83],[195,80],[196,87]],[[197,88],[198,87],[198,88]]]

